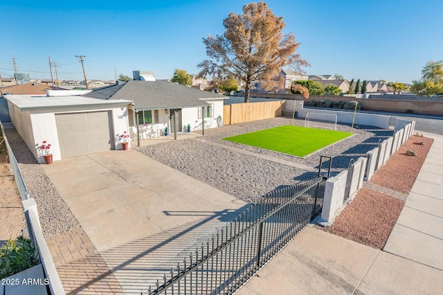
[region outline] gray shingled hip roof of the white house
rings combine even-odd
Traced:
[[[125,84],[102,87],[83,96],[106,100],[131,100],[138,110],[205,107],[208,103],[201,99],[228,98],[217,93],[172,82],[135,80],[128,81]]]

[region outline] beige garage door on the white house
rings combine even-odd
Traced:
[[[111,150],[109,111],[56,114],[62,158]]]

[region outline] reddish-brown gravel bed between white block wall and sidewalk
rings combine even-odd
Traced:
[[[424,145],[419,145],[422,141]],[[409,138],[377,170],[370,182],[400,193],[409,193],[432,143],[431,138]],[[406,156],[406,150],[413,150],[417,155]],[[323,230],[375,249],[383,249],[403,206],[404,202],[400,199],[361,188],[332,226]]]

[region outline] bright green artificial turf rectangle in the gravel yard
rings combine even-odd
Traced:
[[[305,157],[311,152],[351,135],[350,132],[284,125],[223,139]]]

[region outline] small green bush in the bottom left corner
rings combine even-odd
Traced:
[[[39,264],[37,250],[29,239],[20,235],[9,239],[0,248],[0,279],[17,274]]]

